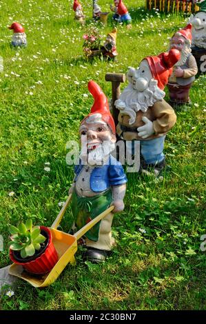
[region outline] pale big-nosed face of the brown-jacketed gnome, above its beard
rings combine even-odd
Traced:
[[[146,90],[150,85],[150,81],[152,80],[152,73],[147,60],[141,61],[139,68],[136,70],[134,68],[130,68],[130,70],[127,72],[127,79],[132,84],[134,90],[137,90],[138,92],[143,92]]]

